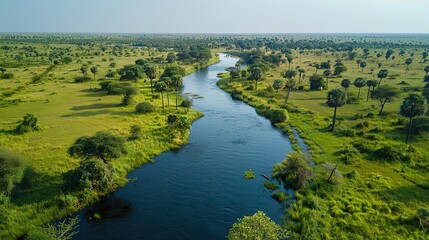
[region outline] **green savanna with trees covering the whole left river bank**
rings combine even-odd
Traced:
[[[45,224],[184,144],[201,113],[177,93],[182,77],[218,59],[195,45],[0,37],[0,239],[72,237],[76,219]]]

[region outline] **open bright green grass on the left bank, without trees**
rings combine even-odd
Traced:
[[[15,44],[16,45],[16,44]],[[21,44],[22,46],[22,44]],[[0,79],[0,147],[22,155],[28,165],[27,183],[10,200],[0,200],[1,223],[0,239],[14,239],[31,228],[51,222],[96,201],[101,195],[113,191],[115,187],[127,183],[127,173],[169,149],[178,148],[186,142],[188,134],[171,137],[166,118],[169,113],[186,115],[191,121],[202,114],[188,108],[174,108],[174,94],[170,94],[170,107],[161,108],[160,93],[150,92],[149,79],[133,83],[139,88],[134,104],[121,105],[122,96],[107,95],[98,85],[109,70],[137,59],[158,66],[158,76],[169,65],[165,61],[167,52],[155,49],[121,46],[121,55],[115,56],[113,50],[100,50],[99,46],[88,49],[68,44],[25,44],[39,51],[50,48],[68,48],[73,62],[58,64],[47,72],[39,83],[32,83],[35,75],[40,75],[51,63],[43,57],[27,56],[22,60],[14,58],[18,50],[0,50],[0,61],[13,73],[12,79]],[[113,49],[113,48],[112,48]],[[76,56],[75,54],[79,54]],[[154,62],[159,58],[157,62]],[[209,64],[218,61],[213,54]],[[116,67],[109,67],[111,62]],[[73,78],[82,76],[80,67],[88,64],[97,66],[95,81],[74,83]],[[198,64],[182,64],[187,73],[194,71]],[[92,74],[88,71],[92,78]],[[110,78],[117,81],[118,77]],[[149,101],[157,107],[150,114],[135,113],[136,103]],[[179,102],[180,103],[180,102]],[[13,129],[22,117],[34,114],[41,130],[22,135],[14,134]],[[67,149],[81,136],[93,135],[99,131],[111,132],[127,138],[130,127],[138,125],[143,137],[126,143],[127,154],[111,161],[115,174],[115,184],[105,192],[87,191],[76,195],[64,194],[61,189],[62,174],[79,165],[77,158],[68,156]]]

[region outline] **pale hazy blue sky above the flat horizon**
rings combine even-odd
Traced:
[[[429,33],[429,0],[0,0],[0,32]]]

